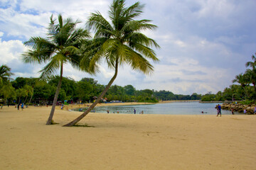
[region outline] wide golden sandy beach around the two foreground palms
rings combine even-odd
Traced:
[[[256,115],[0,110],[0,169],[256,169]]]

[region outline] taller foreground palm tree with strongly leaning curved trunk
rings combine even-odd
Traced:
[[[111,84],[117,77],[117,71],[120,65],[129,64],[132,69],[149,74],[153,72],[153,66],[146,58],[153,61],[159,61],[156,58],[154,50],[150,47],[159,47],[151,38],[140,33],[142,30],[152,30],[156,26],[149,24],[149,20],[136,21],[134,18],[140,16],[144,5],[139,2],[132,6],[125,7],[124,0],[114,0],[110,6],[109,23],[100,12],[92,13],[87,21],[87,26],[95,30],[92,60],[90,61],[90,70],[95,69],[95,65],[105,58],[108,67],[114,69],[114,76],[107,84],[102,94],[92,103],[82,115],[64,126],[73,126],[87,115],[92,108],[103,98]],[[97,46],[99,45],[99,46]]]

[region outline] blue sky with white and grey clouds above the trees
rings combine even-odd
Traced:
[[[38,77],[43,65],[23,64],[23,42],[46,36],[50,15],[58,13],[82,21],[100,11],[107,18],[111,0],[0,0],[0,65],[11,67],[16,77]],[[127,5],[136,1],[127,0]],[[172,91],[174,94],[206,94],[223,91],[235,75],[245,72],[245,62],[256,52],[255,0],[141,0],[144,13],[158,26],[146,35],[161,46],[154,74],[134,72],[128,65],[114,84],[136,89]],[[100,73],[90,76],[65,66],[64,76],[76,81],[92,77],[110,81],[113,70],[102,62]],[[57,73],[58,74],[58,73]]]

